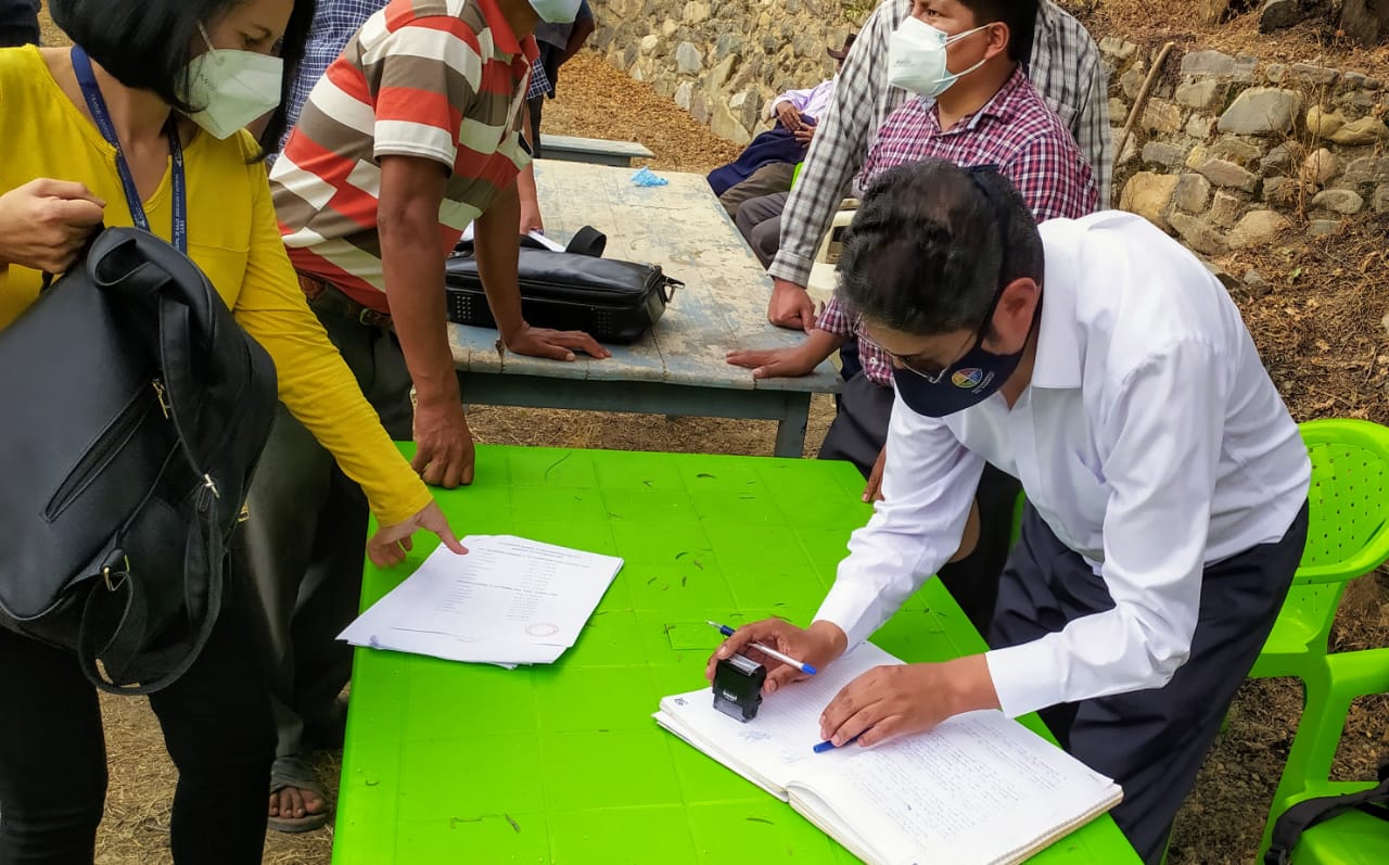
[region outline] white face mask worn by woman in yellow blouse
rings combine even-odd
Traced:
[[[285,61],[256,51],[214,49],[203,25],[197,31],[207,51],[188,64],[183,101],[203,110],[189,119],[218,139],[225,139],[279,104]]]

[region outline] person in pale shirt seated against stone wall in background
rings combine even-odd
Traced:
[[[825,49],[835,58],[835,78],[808,90],[786,90],[774,99],[767,106],[767,117],[776,125],[754,137],[736,160],[708,172],[708,185],[731,219],[738,215],[738,205],[749,199],[790,190],[796,164],[806,158],[815,124],[835,96],[835,81],[853,44],[854,35],[849,33],[842,49]]]

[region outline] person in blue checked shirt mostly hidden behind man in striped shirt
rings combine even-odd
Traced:
[[[7,1],[11,0],[0,0],[0,4]],[[18,1],[26,3],[28,0]],[[353,33],[374,12],[385,8],[386,3],[389,0],[318,0],[318,6],[314,10],[314,26],[308,32],[308,46],[304,50],[304,61],[299,67],[299,75],[294,76],[289,100],[285,104],[289,125],[285,128],[285,137],[281,139],[278,150],[271,154],[271,164],[279,156],[279,150],[285,149],[285,142],[289,139],[290,131],[299,122],[299,112],[304,110],[304,103],[308,101],[310,90],[324,76],[328,67],[338,60],[338,56],[343,53],[343,47],[353,37]],[[531,87],[526,90],[526,99],[543,96],[549,90],[551,90],[550,81],[544,75],[542,58],[538,57],[531,64]],[[531,151],[536,153],[536,142],[539,139],[536,137],[536,131],[531,128],[529,121],[524,132],[526,142],[531,143]],[[517,175],[517,194],[521,196],[519,232],[522,235],[529,230],[543,232],[544,219],[540,217],[540,201],[535,189],[535,168],[529,164]]]

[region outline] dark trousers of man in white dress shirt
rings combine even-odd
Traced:
[[[1206,568],[1190,657],[1167,686],[1042,711],[1061,747],[1124,787],[1114,821],[1149,865],[1163,859],[1172,819],[1278,618],[1306,540],[1303,507],[1282,540]],[[1113,607],[1104,580],[1028,507],[989,644],[1028,643]]]

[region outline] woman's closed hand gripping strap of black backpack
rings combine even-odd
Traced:
[[[104,212],[82,183],[39,178],[11,189],[0,196],[0,265],[63,274]]]

